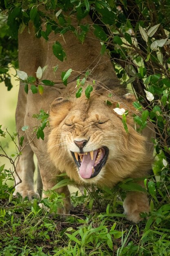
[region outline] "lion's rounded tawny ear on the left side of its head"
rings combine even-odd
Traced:
[[[58,126],[71,110],[71,101],[62,97],[56,98],[51,103],[50,124],[53,127]]]

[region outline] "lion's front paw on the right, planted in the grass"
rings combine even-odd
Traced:
[[[135,223],[142,220],[140,216],[141,212],[148,213],[150,211],[147,195],[145,193],[135,191],[127,192],[123,207],[128,220]]]

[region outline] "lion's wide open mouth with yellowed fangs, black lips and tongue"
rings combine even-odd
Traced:
[[[84,179],[91,179],[99,174],[106,164],[108,153],[109,150],[105,146],[83,154],[71,152],[79,168],[79,174]]]

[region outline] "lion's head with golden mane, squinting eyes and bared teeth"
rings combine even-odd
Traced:
[[[113,97],[113,105],[107,106],[107,94],[57,98],[51,105],[50,157],[77,183],[113,186],[150,168],[146,138],[135,131],[130,100]],[[129,110],[128,132],[113,110],[122,100],[120,107]]]

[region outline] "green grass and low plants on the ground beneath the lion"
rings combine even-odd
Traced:
[[[84,195],[73,193],[71,214],[61,216],[56,210],[64,195],[51,191],[41,201],[44,209],[38,199],[13,197],[13,187],[4,182],[11,174],[2,169],[0,256],[170,255],[170,182],[148,181],[151,212],[134,224],[126,220],[117,197],[124,197],[122,184],[113,191],[93,188],[89,194],[87,188]]]

